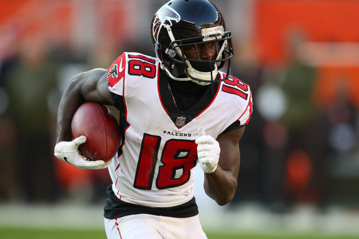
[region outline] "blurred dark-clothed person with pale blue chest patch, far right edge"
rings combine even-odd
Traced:
[[[325,110],[326,199],[329,203],[357,204],[359,200],[359,117],[349,99],[345,79],[338,79],[336,95]]]

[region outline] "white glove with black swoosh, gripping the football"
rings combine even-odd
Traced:
[[[79,145],[86,141],[85,136],[75,138],[73,141],[61,141],[55,145],[54,155],[66,161],[79,169],[105,169],[111,160],[105,162],[103,160],[89,161],[84,158],[78,151]]]

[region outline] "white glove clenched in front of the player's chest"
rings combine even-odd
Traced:
[[[199,137],[196,139],[197,156],[200,168],[205,173],[213,173],[217,169],[219,159],[219,143],[211,135],[206,135],[205,129],[198,127]]]

